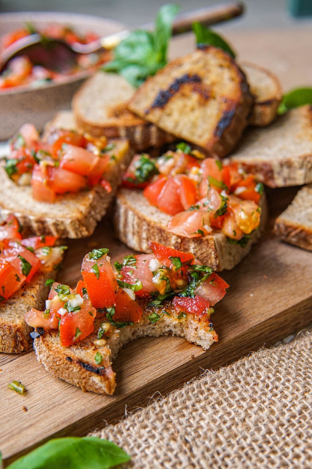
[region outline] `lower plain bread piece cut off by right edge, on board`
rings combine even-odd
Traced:
[[[299,190],[275,220],[274,233],[285,242],[312,251],[312,184]]]

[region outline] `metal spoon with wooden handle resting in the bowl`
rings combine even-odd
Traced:
[[[178,15],[174,20],[173,35],[190,31],[194,22],[202,23],[206,26],[222,23],[232,18],[240,16],[244,12],[244,6],[240,2],[223,3],[209,8],[201,8]],[[147,23],[141,27],[144,30],[152,30],[153,23]],[[50,69],[71,68],[76,62],[77,54],[89,54],[98,52],[101,49],[112,49],[131,33],[131,30],[124,30],[115,34],[110,34],[89,44],[79,44],[77,42],[68,44],[67,42],[46,38],[39,33],[31,34],[25,38],[15,41],[8,46],[0,56],[0,73],[5,70],[8,62],[16,56],[27,55],[31,61]]]

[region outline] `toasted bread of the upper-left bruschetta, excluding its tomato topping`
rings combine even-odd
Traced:
[[[71,113],[60,113],[53,125],[56,122],[61,124],[63,120],[73,123],[71,119]],[[45,132],[49,129],[51,126]],[[9,213],[13,213],[26,234],[52,234],[62,238],[90,236],[115,196],[122,175],[131,160],[132,153],[127,140],[110,140],[109,143],[115,144],[108,152],[114,158],[105,172],[105,177],[112,187],[110,193],[101,186],[95,186],[91,190],[58,196],[53,204],[38,202],[32,197],[30,186],[17,186],[7,177],[3,166],[0,166],[1,218],[5,219]]]

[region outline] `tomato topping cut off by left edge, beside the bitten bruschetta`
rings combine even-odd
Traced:
[[[56,270],[66,249],[55,247],[54,236],[22,238],[21,231],[13,215],[0,225],[0,302],[28,283],[36,272]]]

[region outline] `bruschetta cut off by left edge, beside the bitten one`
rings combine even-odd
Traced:
[[[0,226],[0,352],[19,353],[32,347],[25,308],[43,306],[45,280],[54,276],[66,246],[54,236],[25,238],[10,215]]]

